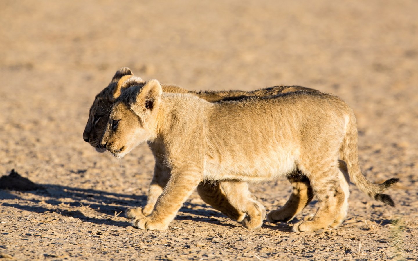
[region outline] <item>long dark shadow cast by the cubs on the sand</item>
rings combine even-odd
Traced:
[[[5,177],[7,179],[4,179]],[[123,213],[127,208],[144,206],[147,201],[146,195],[127,195],[53,184],[39,185],[21,177],[14,170],[9,176],[2,178],[5,186],[0,188],[0,198],[18,200],[17,203],[3,202],[3,207],[18,208],[33,213],[55,212],[65,217],[78,218],[83,222],[95,224],[131,226],[129,219],[124,222],[113,220],[113,217],[124,216]],[[28,194],[37,197],[31,198]],[[225,216],[205,204],[186,202],[179,212],[181,215],[176,217],[177,220],[194,220],[226,227],[240,226],[238,223],[235,226],[222,222],[221,219]],[[107,216],[103,217],[100,213]]]

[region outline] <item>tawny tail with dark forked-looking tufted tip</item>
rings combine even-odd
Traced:
[[[357,148],[357,124],[354,113],[350,110],[351,114],[346,116],[345,119],[345,135],[341,147],[341,157],[347,164],[348,174],[351,181],[363,191],[370,198],[379,200],[387,205],[392,207],[395,206],[390,195],[382,194],[385,190],[392,187],[393,184],[399,181],[398,178],[391,178],[386,180],[382,184],[375,184],[370,182],[364,177],[362,171],[360,170],[359,164],[359,153]]]

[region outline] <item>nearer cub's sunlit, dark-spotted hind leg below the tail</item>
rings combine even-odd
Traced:
[[[328,167],[326,167],[328,165]],[[303,172],[311,181],[314,195],[318,199],[319,208],[308,221],[301,221],[293,226],[293,231],[319,231],[328,228],[343,213],[342,208],[347,198],[342,182],[338,164],[329,163],[304,167]]]

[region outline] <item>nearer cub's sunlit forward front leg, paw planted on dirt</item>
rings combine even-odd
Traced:
[[[157,200],[150,215],[139,215],[132,219],[135,228],[165,230],[174,219],[184,201],[193,193],[201,181],[202,170],[173,167],[167,186]]]

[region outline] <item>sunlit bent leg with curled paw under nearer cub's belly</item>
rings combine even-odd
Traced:
[[[222,180],[220,186],[229,203],[238,211],[247,214],[240,222],[242,226],[255,230],[263,225],[265,207],[251,195],[246,182]]]

